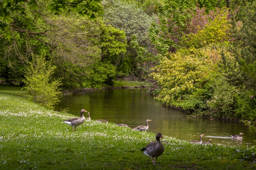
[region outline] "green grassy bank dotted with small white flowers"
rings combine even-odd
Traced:
[[[84,122],[72,132],[72,127],[61,121],[74,115],[43,108],[26,100],[22,93],[20,88],[0,87],[1,170],[256,168],[252,156],[255,147],[198,145],[164,134],[161,140],[165,152],[156,161],[159,165],[153,165],[150,157],[140,150],[155,141],[156,134],[130,131],[113,123],[93,120]],[[78,108],[78,112],[81,109]]]

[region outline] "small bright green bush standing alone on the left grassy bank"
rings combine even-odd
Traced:
[[[55,68],[45,58],[32,54],[32,62],[25,73],[25,86],[22,89],[27,90],[34,102],[47,108],[53,108],[61,95],[58,89],[61,80],[51,80]]]

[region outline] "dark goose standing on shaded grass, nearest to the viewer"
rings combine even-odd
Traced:
[[[143,154],[151,157],[151,160],[153,164],[156,163],[156,160],[153,160],[153,157],[159,157],[161,154],[163,154],[163,151],[165,150],[165,147],[160,141],[160,137],[163,138],[161,133],[156,134],[156,141],[149,143],[145,148],[141,149],[141,151],[144,151]]]

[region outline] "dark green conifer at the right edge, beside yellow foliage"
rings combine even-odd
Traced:
[[[224,74],[236,86],[256,90],[256,2],[241,1],[236,13],[232,13],[232,52],[235,61],[224,57]]]

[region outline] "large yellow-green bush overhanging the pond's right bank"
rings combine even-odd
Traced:
[[[182,99],[182,95],[200,88],[205,76],[216,71],[221,51],[213,48],[180,49],[166,53],[151,74],[161,86],[156,99],[166,104]]]

